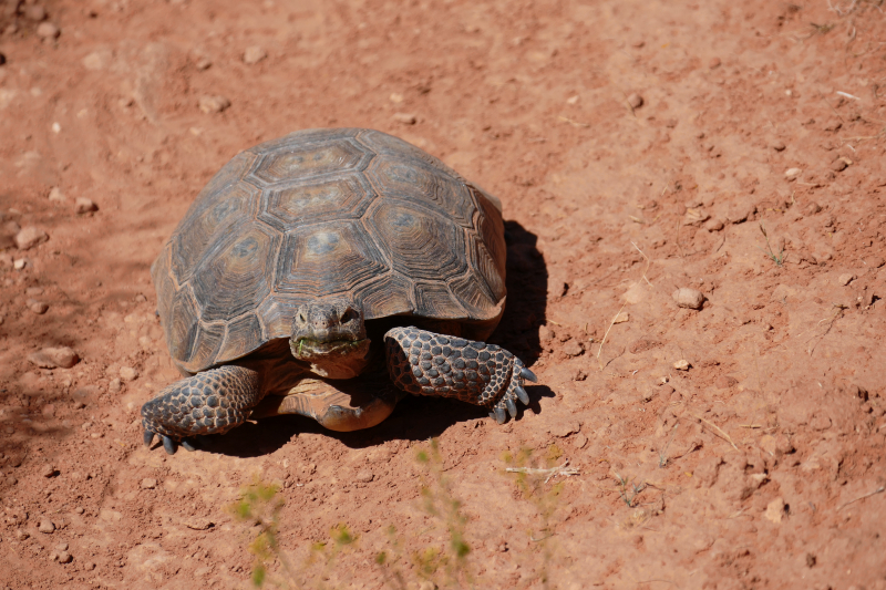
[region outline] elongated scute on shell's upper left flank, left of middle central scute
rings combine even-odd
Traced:
[[[245,218],[253,217],[258,194],[254,186],[239,183],[194,203],[194,210],[178,224],[171,238],[172,269],[179,283],[193,276],[209,245],[236,231],[237,224]]]

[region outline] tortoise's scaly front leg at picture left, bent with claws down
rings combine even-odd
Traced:
[[[260,398],[258,373],[243,366],[219,366],[176,381],[142,406],[145,444],[156,434],[171,455],[178,443],[193,451],[189,437],[239,426]]]

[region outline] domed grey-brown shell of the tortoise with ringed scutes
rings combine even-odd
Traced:
[[[371,130],[308,130],[235,156],[151,268],[169,353],[197,373],[292,334],[302,303],[367,321],[456,320],[488,335],[505,300],[498,199]]]

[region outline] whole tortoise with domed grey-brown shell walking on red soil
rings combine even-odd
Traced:
[[[142,406],[145,444],[193,451],[278,414],[367,428],[406,393],[516,417],[536,377],[484,342],[505,256],[501,201],[391,135],[307,130],[238,154],[151,268],[185,379]]]

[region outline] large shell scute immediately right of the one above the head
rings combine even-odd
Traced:
[[[412,279],[446,280],[465,271],[464,229],[446,216],[395,199],[367,214],[394,270]]]

